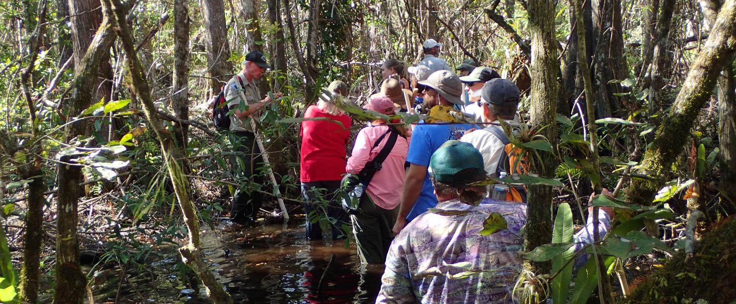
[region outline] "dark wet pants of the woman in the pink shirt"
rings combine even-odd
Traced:
[[[394,239],[392,229],[399,214],[399,206],[388,210],[376,206],[368,193],[361,197],[360,214],[351,214],[355,243],[361,263],[383,264]]]

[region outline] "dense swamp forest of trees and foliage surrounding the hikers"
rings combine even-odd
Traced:
[[[202,243],[235,189],[265,196],[266,222],[302,221],[305,109],[341,80],[355,134],[375,118],[360,106],[383,62],[417,65],[432,38],[453,72],[473,59],[522,95],[513,140],[531,172],[495,181],[528,189],[515,300],[730,303],[735,2],[2,1],[0,302],[116,300],[108,275],[176,256],[175,276],[205,287],[194,294],[233,303]],[[277,99],[258,121],[261,184],[230,174],[210,107],[250,51],[272,67],[258,90]],[[614,198],[589,203],[603,188]],[[573,278],[567,248],[548,243],[589,204],[616,222]]]

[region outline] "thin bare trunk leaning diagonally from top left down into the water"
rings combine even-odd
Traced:
[[[126,21],[127,8],[118,2],[118,0],[104,1],[103,10],[105,10],[105,15],[115,20],[116,32],[121,39],[125,54],[127,54],[127,65],[130,68],[133,92],[135,92],[135,95],[143,103],[149,125],[160,142],[161,152],[165,159],[166,168],[169,171],[169,178],[171,178],[171,184],[174,185],[174,195],[177,197],[184,216],[184,222],[188,228],[189,242],[180,248],[183,261],[199,275],[213,303],[233,303],[230,294],[225,292],[208,269],[207,264],[202,261],[202,253],[199,252],[199,219],[197,218],[194,203],[189,199],[189,181],[182,169],[181,159],[185,157],[185,153],[174,144],[174,138],[171,137],[171,133],[166,131],[163,123],[158,118],[156,107],[151,98],[151,88],[146,80],[144,69],[138,59],[138,54],[135,53],[135,45]]]

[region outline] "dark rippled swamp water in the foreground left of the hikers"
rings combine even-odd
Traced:
[[[235,303],[372,303],[381,286],[383,265],[361,265],[355,245],[306,241],[303,219],[206,231],[202,251]],[[211,303],[203,286],[195,292],[181,283],[174,264],[150,265],[168,274],[130,275],[117,303]],[[115,300],[118,280],[95,291],[98,303]]]

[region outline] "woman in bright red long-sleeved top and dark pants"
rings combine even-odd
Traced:
[[[334,103],[334,98],[347,95],[347,84],[334,81],[328,87],[333,93],[331,100],[320,98],[316,105],[309,106],[305,118],[326,117],[330,120],[304,120],[302,137],[301,173],[302,196],[309,203],[304,204],[307,213],[307,239],[322,239],[320,220],[336,220],[332,226],[332,238],[344,239],[347,236],[342,225],[350,225],[350,217],[334,200],[340,188],[340,180],[345,174],[347,141],[350,138],[350,117]],[[322,198],[322,200],[316,200]],[[322,203],[320,203],[322,202]],[[321,216],[320,216],[321,215]]]

